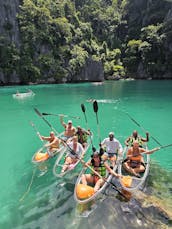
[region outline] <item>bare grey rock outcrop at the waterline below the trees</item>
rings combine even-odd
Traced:
[[[91,58],[86,61],[85,66],[81,69],[79,74],[72,77],[69,76],[67,79],[69,82],[95,82],[103,80],[103,64],[101,62],[94,61]]]

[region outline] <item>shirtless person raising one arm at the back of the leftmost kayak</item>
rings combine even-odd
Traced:
[[[63,121],[63,115],[60,115],[60,123],[65,128],[64,131],[64,139],[68,140],[69,138],[73,137],[76,133],[76,128],[72,125],[72,120],[68,120],[68,123],[66,124]]]

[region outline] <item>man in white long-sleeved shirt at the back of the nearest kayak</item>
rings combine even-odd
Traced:
[[[119,140],[114,138],[113,132],[109,132],[109,137],[101,142],[100,147],[105,149],[102,155],[103,160],[106,161],[109,159],[112,163],[112,167],[114,167],[117,155],[122,155],[123,148]]]

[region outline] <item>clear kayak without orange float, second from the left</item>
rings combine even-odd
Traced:
[[[91,139],[88,138],[87,146],[85,148],[85,154],[86,154],[86,152],[88,151],[88,149],[90,147],[92,137],[93,136],[91,135]],[[65,152],[64,153],[60,153],[59,157],[57,158],[57,160],[56,160],[56,162],[55,162],[55,164],[53,166],[53,174],[54,174],[54,176],[63,177],[66,174],[68,174],[69,172],[73,171],[78,166],[78,164],[80,163],[80,160],[78,159],[77,162],[74,163],[74,164],[71,164],[69,166],[69,168],[65,172],[61,172],[62,167],[63,167],[63,165],[65,163],[65,158],[66,158],[66,156],[67,156],[67,154],[69,152],[70,152],[70,149],[69,149],[69,147],[66,146]]]

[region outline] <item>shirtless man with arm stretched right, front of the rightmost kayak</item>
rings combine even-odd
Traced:
[[[139,142],[134,141],[133,146],[128,149],[127,158],[124,160],[123,167],[131,174],[140,177],[139,173],[145,171],[145,165],[142,154],[152,154],[155,151],[159,150],[159,147],[156,147],[152,150],[146,150],[139,147]]]

